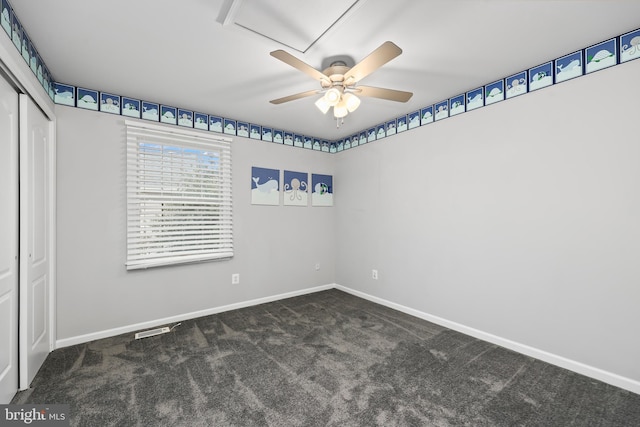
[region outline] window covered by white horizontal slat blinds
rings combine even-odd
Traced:
[[[125,123],[127,269],[232,257],[231,140]]]

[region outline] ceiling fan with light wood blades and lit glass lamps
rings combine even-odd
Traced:
[[[360,105],[360,99],[357,95],[396,102],[407,102],[411,99],[413,93],[372,86],[360,86],[357,84],[360,80],[401,53],[402,49],[394,43],[387,41],[353,67],[349,67],[344,61],[335,61],[332,62],[328,68],[320,72],[284,50],[274,50],[271,52],[271,56],[318,80],[321,88],[273,99],[269,102],[272,104],[282,104],[300,98],[323,94],[323,96],[316,101],[316,107],[324,114],[333,107],[333,116],[336,118],[338,126],[340,126],[340,120],[344,120],[347,114],[355,111]]]

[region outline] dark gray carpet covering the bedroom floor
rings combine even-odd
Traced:
[[[54,351],[73,426],[638,426],[640,395],[338,290]]]

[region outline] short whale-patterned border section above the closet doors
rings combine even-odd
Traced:
[[[27,30],[22,26],[20,20],[13,12],[13,7],[9,0],[1,0],[0,3],[0,26],[4,29],[5,34],[13,45],[22,55],[33,74],[36,76],[44,91],[49,95],[52,101],[55,101],[53,76],[49,72],[49,68],[38,53],[38,49],[31,42]],[[0,30],[2,32],[2,30]]]

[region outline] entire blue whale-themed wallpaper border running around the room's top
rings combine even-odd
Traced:
[[[31,43],[26,30],[20,25],[20,21],[13,13],[9,1],[0,1],[2,2],[0,22],[4,31],[22,54],[25,62],[29,64],[45,92],[49,94],[49,97],[56,104],[237,135],[325,153],[338,153],[349,150],[397,133],[426,126],[477,108],[486,107],[640,58],[640,29],[637,29],[476,89],[471,89],[449,99],[424,106],[419,110],[387,120],[368,129],[363,129],[351,136],[336,141],[327,141],[271,126],[162,105],[95,89],[86,89],[58,82],[54,83],[49,69],[40,58],[33,43]]]

